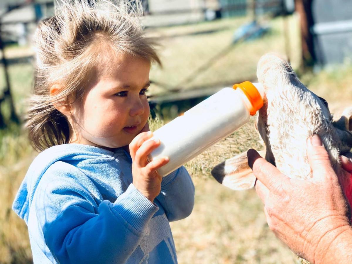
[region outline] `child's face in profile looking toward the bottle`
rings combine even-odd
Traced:
[[[146,125],[150,109],[145,95],[150,62],[121,55],[99,67],[70,121],[76,137],[70,143],[116,148],[130,144]]]

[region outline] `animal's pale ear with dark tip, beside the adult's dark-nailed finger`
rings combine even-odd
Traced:
[[[264,157],[265,151],[259,151],[259,154]],[[248,165],[247,151],[216,165],[212,175],[216,181],[232,190],[247,190],[253,188],[256,182]]]

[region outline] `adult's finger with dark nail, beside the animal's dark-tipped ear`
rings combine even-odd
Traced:
[[[281,190],[283,182],[289,182],[288,177],[283,175],[274,165],[260,157],[253,149],[247,151],[248,165],[253,170],[254,176],[261,181],[270,191]]]

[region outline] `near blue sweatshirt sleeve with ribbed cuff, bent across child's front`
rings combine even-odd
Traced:
[[[44,175],[33,199],[51,253],[59,263],[124,263],[158,207],[132,184],[114,203],[97,202],[101,197],[83,172],[62,175]]]

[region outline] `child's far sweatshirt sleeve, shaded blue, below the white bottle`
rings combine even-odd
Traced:
[[[161,192],[156,199],[164,208],[170,222],[191,214],[194,206],[194,185],[184,166],[163,178]]]

